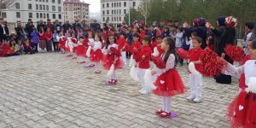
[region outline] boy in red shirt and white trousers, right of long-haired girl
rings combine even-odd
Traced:
[[[203,52],[203,49],[201,49],[201,43],[201,38],[192,38],[193,49],[189,49],[189,61],[190,63],[193,62],[195,64],[195,70],[199,72],[199,74],[189,73],[191,95],[187,97],[187,99],[193,102],[201,102],[202,67],[200,55]]]

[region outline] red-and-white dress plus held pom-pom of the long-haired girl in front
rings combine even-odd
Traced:
[[[154,84],[157,89],[154,90],[154,94],[157,96],[175,96],[183,94],[186,88],[183,84],[183,80],[177,73],[175,67],[175,56],[169,55],[167,61],[163,60],[165,55],[158,57],[152,56],[155,66],[158,68],[156,71],[157,79]]]

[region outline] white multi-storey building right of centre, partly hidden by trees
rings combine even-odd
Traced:
[[[102,22],[121,24],[131,8],[137,9],[141,0],[101,0]]]

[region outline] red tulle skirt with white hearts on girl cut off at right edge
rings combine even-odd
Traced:
[[[256,127],[256,94],[242,90],[228,108],[228,119],[232,127]]]

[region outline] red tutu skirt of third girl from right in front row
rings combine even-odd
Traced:
[[[114,54],[112,54],[112,55],[103,55],[102,65],[103,65],[104,69],[106,69],[106,70],[110,69],[110,67],[113,64],[114,57],[115,57]],[[115,65],[114,65],[114,68],[118,69],[118,68],[121,68],[122,66],[123,66],[122,59],[120,57],[118,57],[118,60],[116,61]]]

